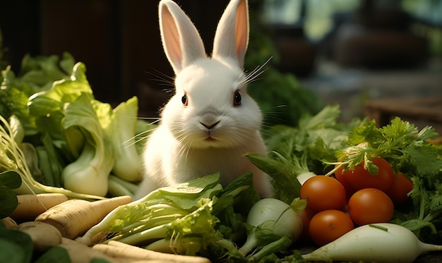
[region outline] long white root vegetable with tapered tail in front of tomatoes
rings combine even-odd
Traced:
[[[354,228],[302,257],[316,262],[412,263],[419,255],[431,251],[442,251],[442,245],[422,243],[403,226],[380,223]]]

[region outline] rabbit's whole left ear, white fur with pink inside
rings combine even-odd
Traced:
[[[162,47],[176,74],[207,56],[195,25],[174,1],[160,1],[159,18]]]

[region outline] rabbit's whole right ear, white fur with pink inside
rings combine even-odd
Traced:
[[[244,66],[249,44],[249,7],[247,0],[231,0],[218,23],[213,43],[213,57],[229,58]]]

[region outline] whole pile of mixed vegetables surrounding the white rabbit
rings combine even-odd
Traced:
[[[215,173],[132,201],[150,130],[136,97],[97,101],[85,65],[64,54],[4,68],[0,102],[0,258],[412,262],[441,250],[431,127],[338,123],[329,105],[266,130],[267,156],[245,154],[273,179],[272,198],[260,200],[251,173],[229,185]]]

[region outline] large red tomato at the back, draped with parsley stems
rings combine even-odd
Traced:
[[[395,180],[393,168],[383,158],[374,158],[371,161],[378,166],[378,174],[376,175],[364,169],[364,161],[362,161],[362,164],[354,166],[353,170],[338,171],[336,176],[340,177],[342,181],[346,181],[350,189],[355,191],[364,188],[378,188],[386,192]]]

